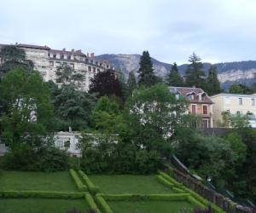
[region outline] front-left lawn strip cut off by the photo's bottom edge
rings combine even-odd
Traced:
[[[1,213],[66,213],[73,208],[89,209],[83,199],[0,199]]]

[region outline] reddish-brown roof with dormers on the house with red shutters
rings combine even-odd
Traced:
[[[187,101],[190,103],[206,103],[206,104],[213,104],[211,98],[207,95],[207,93],[201,88],[194,88],[194,87],[169,87],[172,93],[176,93],[179,95],[183,95]],[[204,99],[199,100],[195,98],[194,100],[190,100],[188,95],[195,94],[196,96],[205,95]]]

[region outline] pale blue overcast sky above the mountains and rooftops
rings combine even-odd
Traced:
[[[256,60],[256,0],[0,0],[0,43],[142,54],[177,64]]]

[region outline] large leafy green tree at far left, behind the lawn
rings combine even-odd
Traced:
[[[49,88],[40,73],[15,68],[3,76],[0,90],[2,139],[10,148],[4,157],[5,167],[12,170],[66,169],[67,162],[59,164],[59,159],[67,159],[67,154],[58,152],[51,141],[55,130],[53,106]]]

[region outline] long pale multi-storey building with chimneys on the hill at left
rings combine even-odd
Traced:
[[[0,44],[0,49],[4,45],[6,44]],[[97,72],[113,69],[108,60],[97,61],[93,53],[85,55],[80,49],[67,51],[22,43],[15,43],[15,46],[25,50],[27,60],[32,60],[35,69],[42,74],[45,81],[55,82],[55,72],[59,66],[71,66],[76,72],[84,75],[84,82],[81,85],[81,90],[84,91],[89,89],[90,78]]]

